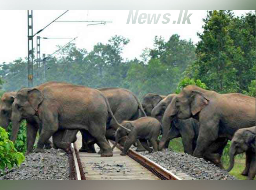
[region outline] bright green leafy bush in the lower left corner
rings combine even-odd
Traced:
[[[6,167],[11,169],[14,164],[19,166],[24,160],[25,156],[14,148],[8,133],[0,127],[0,173],[4,173]]]

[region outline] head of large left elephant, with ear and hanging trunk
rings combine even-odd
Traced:
[[[39,105],[43,102],[44,95],[36,88],[20,89],[12,104],[12,137],[15,142],[23,119],[31,118],[38,114]]]

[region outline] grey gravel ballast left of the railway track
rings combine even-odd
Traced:
[[[62,150],[45,150],[31,153],[20,167],[16,167],[0,180],[67,180],[69,179],[68,154]]]

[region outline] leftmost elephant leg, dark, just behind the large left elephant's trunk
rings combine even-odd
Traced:
[[[26,155],[33,151],[33,146],[36,141],[36,134],[38,131],[38,126],[33,125],[27,121],[27,152]]]

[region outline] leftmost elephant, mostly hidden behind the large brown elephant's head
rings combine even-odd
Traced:
[[[52,84],[52,83],[51,83]],[[4,129],[7,129],[8,125],[11,122],[11,115],[12,115],[12,103],[14,102],[14,98],[16,96],[17,92],[5,92],[2,95],[1,98],[1,103],[0,103],[0,126],[2,126]],[[36,131],[38,130],[38,128],[40,128],[39,124],[36,123],[36,121],[34,121],[34,119],[27,119],[27,126],[28,128],[33,128],[36,129]],[[40,130],[39,130],[40,131]],[[27,152],[26,154],[28,154],[29,152],[32,151],[33,145],[31,146],[30,144],[30,137],[32,136],[33,131],[31,130],[27,130]],[[51,141],[47,141],[45,143],[45,148],[50,149],[52,148],[51,145]]]

